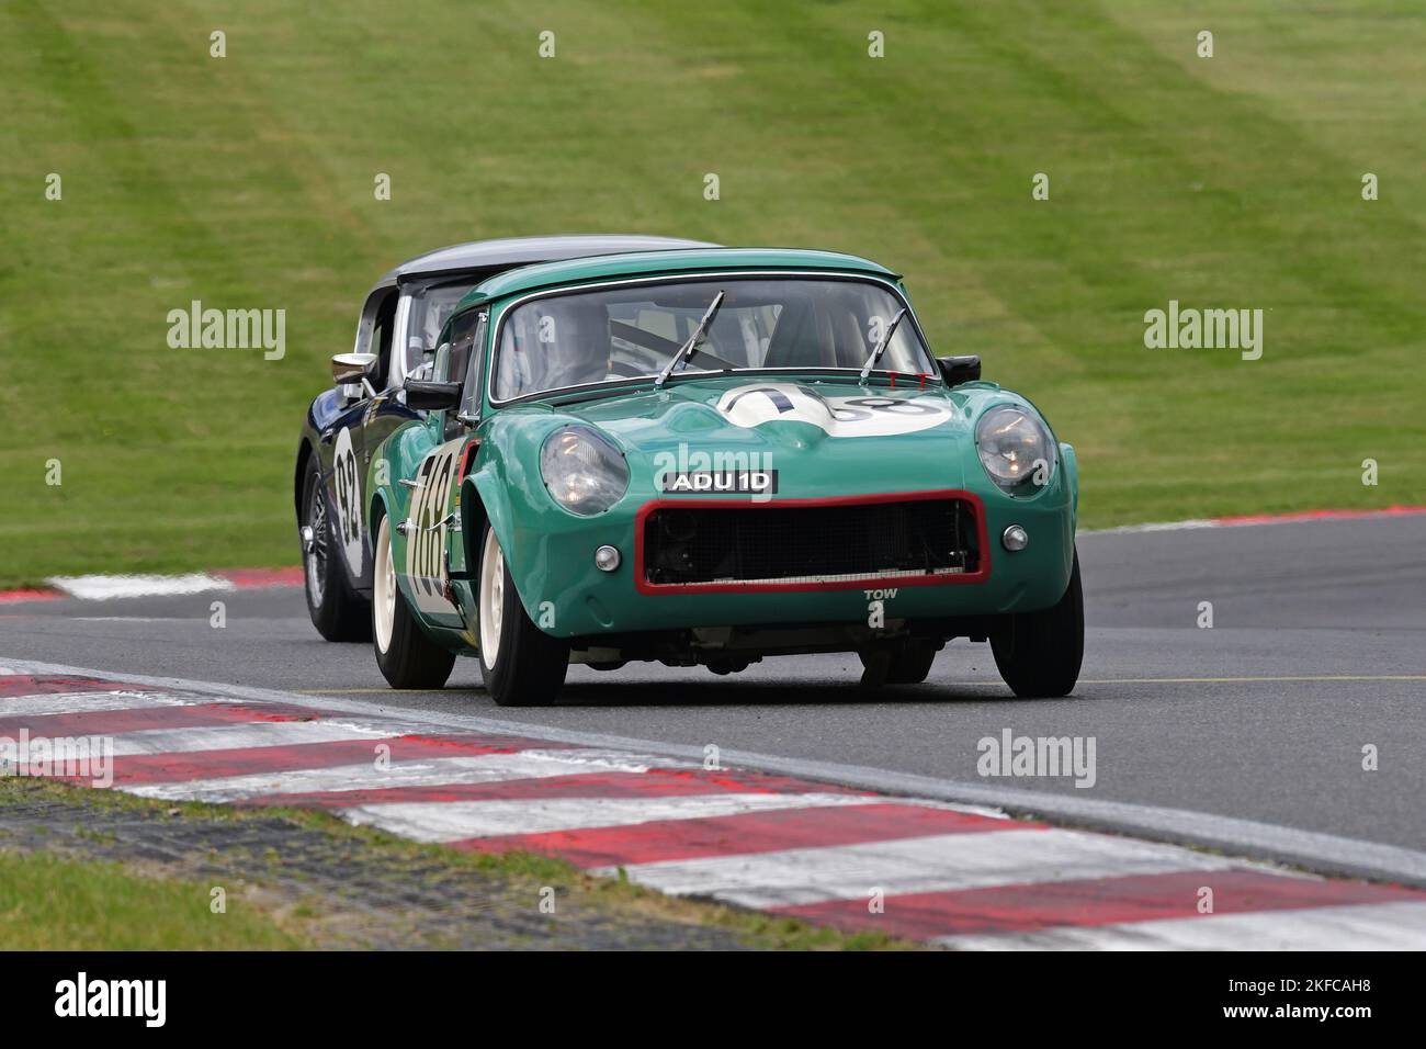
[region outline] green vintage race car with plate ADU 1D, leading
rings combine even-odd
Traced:
[[[543,263],[445,321],[362,491],[376,661],[502,705],[572,662],[857,652],[863,684],[988,641],[1065,695],[1084,617],[1074,450],[1024,397],[937,360],[897,274],[826,251]]]

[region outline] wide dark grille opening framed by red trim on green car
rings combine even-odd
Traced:
[[[974,507],[908,500],[829,507],[659,507],[645,518],[656,587],[817,584],[980,571]]]

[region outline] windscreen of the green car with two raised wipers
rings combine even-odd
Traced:
[[[493,400],[657,375],[719,293],[690,373],[860,370],[906,305],[886,284],[833,277],[714,277],[542,295],[501,318]],[[876,367],[935,374],[907,318]]]

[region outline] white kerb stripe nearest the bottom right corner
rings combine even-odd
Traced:
[[[1426,903],[1352,903],[1296,911],[1155,918],[1041,932],[943,936],[960,951],[1420,951]]]

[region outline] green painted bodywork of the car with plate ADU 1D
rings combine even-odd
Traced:
[[[492,315],[533,288],[573,284],[645,273],[687,273],[690,270],[752,268],[804,270],[811,260],[826,268],[861,271],[880,280],[896,280],[890,271],[850,255],[771,250],[699,250],[639,255],[610,255],[533,265],[496,277],[473,291],[461,310],[489,305]],[[556,280],[558,278],[558,280]],[[459,311],[458,311],[459,313]],[[498,324],[488,325],[486,345]],[[831,437],[813,422],[774,420],[753,427],[734,425],[714,405],[732,388],[796,382],[809,397],[877,397],[890,402],[924,398],[945,415],[937,425],[915,432],[881,437]],[[655,488],[655,457],[690,451],[759,452],[779,471],[773,501],[827,498],[883,492],[964,490],[977,495],[985,512],[988,537],[985,555],[990,577],[978,584],[903,587],[888,607],[888,617],[930,618],[1034,611],[1052,605],[1068,585],[1074,559],[1078,472],[1074,451],[1058,444],[1060,458],[1051,481],[1028,497],[1011,497],[985,475],[975,452],[975,421],[998,404],[1034,407],[1021,395],[994,382],[970,382],[947,388],[931,380],[924,388],[907,388],[903,381],[890,388],[884,377],[858,387],[856,374],[829,378],[806,375],[709,375],[680,378],[662,391],[652,380],[625,392],[599,400],[552,405],[543,400],[495,408],[485,401],[482,418],[463,440],[479,440],[473,465],[459,497],[452,491],[439,515],[461,514],[462,531],[442,529],[449,559],[451,585],[461,611],[416,609],[428,631],[452,648],[469,652],[476,639],[465,622],[476,622],[473,582],[481,531],[485,520],[499,538],[506,564],[529,617],[556,637],[602,632],[667,629],[679,627],[736,627],[753,624],[858,624],[867,617],[867,595],[853,589],[809,592],[686,592],[640,594],[635,587],[635,515],[656,498],[669,498]],[[1037,412],[1038,414],[1038,412]],[[586,424],[603,431],[625,454],[629,490],[607,512],[576,517],[559,507],[545,488],[539,454],[545,438],[569,424]],[[371,534],[376,514],[391,512],[405,520],[412,492],[401,478],[415,478],[422,461],[448,445],[443,412],[431,412],[422,422],[408,422],[391,435],[372,457],[366,491],[372,492]],[[1051,431],[1052,432],[1052,431]],[[461,444],[451,445],[459,451]],[[448,450],[449,451],[449,450]],[[456,457],[459,461],[459,455]],[[381,471],[386,470],[385,478]],[[676,497],[674,497],[676,498]],[[746,501],[747,495],[724,495]],[[756,512],[756,511],[753,511]],[[439,520],[428,515],[426,520]],[[1021,524],[1030,547],[1011,554],[1000,545],[1000,534]],[[406,565],[409,539],[395,538],[398,568]],[[595,568],[593,552],[609,544],[623,554],[615,572]],[[402,592],[411,598],[412,579],[398,571]]]

